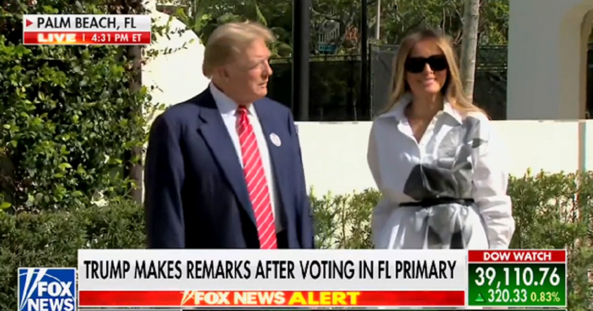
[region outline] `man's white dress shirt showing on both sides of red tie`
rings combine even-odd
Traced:
[[[216,88],[214,84],[211,83],[209,87],[212,97],[216,102],[216,107],[218,107],[222,120],[227,127],[228,134],[231,136],[232,144],[237,151],[237,161],[239,161],[241,167],[243,167],[243,153],[241,153],[241,143],[239,141],[239,134],[237,133],[237,121],[239,117],[237,113],[238,105],[221,90]],[[260,156],[262,156],[263,169],[264,172],[266,172],[267,188],[270,191],[270,202],[272,203],[272,213],[276,224],[276,232],[280,232],[282,230],[282,222],[278,215],[282,214],[279,210],[282,205],[280,204],[279,196],[276,191],[275,176],[272,170],[272,160],[270,159],[270,153],[267,148],[267,139],[263,133],[262,125],[257,118],[256,110],[253,105],[250,105],[247,111],[247,117],[249,118],[249,123],[253,127],[253,132],[255,132],[257,147],[259,148]]]

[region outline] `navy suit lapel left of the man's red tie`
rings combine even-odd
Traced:
[[[205,98],[203,98],[203,101],[209,102],[205,102],[200,109],[199,117],[202,120],[202,124],[200,124],[197,130],[202,134],[212,150],[212,154],[231,185],[232,191],[237,195],[241,207],[243,207],[251,221],[255,224],[256,220],[253,214],[253,207],[251,207],[251,201],[249,200],[243,167],[237,159],[237,151],[234,145],[232,145],[231,136],[229,136],[227,127],[224,121],[222,121],[222,116],[216,108],[214,98],[212,98],[212,94],[209,91],[207,93],[204,94]]]

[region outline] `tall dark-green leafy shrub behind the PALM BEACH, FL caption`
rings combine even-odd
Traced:
[[[0,7],[0,209],[88,206],[129,188],[126,152],[142,146],[146,92],[131,91],[125,47],[23,46],[22,14],[104,13],[78,1]],[[72,2],[72,3],[69,3]],[[133,159],[135,160],[135,159]]]

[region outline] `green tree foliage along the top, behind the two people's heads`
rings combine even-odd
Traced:
[[[272,28],[280,43],[273,52],[288,56],[292,46],[292,2],[277,0],[180,0],[191,17],[187,21],[202,40],[219,24],[228,21],[254,20]],[[380,0],[368,0],[368,27],[375,27],[377,21],[375,5]],[[438,27],[445,30],[459,43],[463,30],[463,0],[382,0],[381,37],[375,43],[397,44],[410,30],[420,27]],[[327,21],[340,25],[339,36],[333,44],[338,53],[357,53],[360,46],[361,1],[313,0],[311,10],[311,43],[315,51],[321,26]],[[480,2],[480,44],[506,44],[508,36],[509,0],[482,0]],[[354,31],[354,38],[347,36]],[[373,31],[369,31],[372,34]],[[371,38],[372,39],[372,38]]]

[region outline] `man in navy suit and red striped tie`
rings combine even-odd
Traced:
[[[256,23],[217,28],[204,54],[208,89],[152,124],[149,248],[314,247],[294,120],[266,98],[273,39]]]

